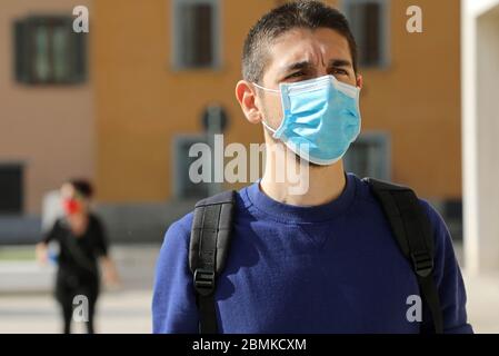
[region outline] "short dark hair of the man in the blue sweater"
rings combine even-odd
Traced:
[[[266,49],[280,34],[296,28],[328,28],[348,40],[353,70],[357,72],[357,44],[347,18],[337,9],[320,1],[298,0],[285,3],[265,14],[251,28],[242,53],[242,77],[259,82],[269,60]]]

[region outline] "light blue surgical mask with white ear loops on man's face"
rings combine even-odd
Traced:
[[[339,161],[360,134],[360,89],[325,76],[293,83],[279,90],[283,118],[275,130],[263,125],[295,154],[317,165]]]

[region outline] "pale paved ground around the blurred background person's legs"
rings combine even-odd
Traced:
[[[22,255],[30,247],[14,248]],[[101,294],[97,333],[151,333],[151,290],[159,246],[116,246],[112,256],[122,279],[120,290]],[[60,333],[59,306],[52,297],[53,266],[32,260],[0,261],[0,334]],[[86,332],[73,324],[74,333]]]

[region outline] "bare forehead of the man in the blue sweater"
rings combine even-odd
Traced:
[[[269,69],[286,69],[298,62],[327,66],[332,60],[351,62],[348,40],[332,29],[293,29],[279,36],[269,48]]]

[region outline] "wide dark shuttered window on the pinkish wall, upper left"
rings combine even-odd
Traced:
[[[70,17],[28,17],[14,22],[16,79],[23,83],[86,80],[86,33]]]

